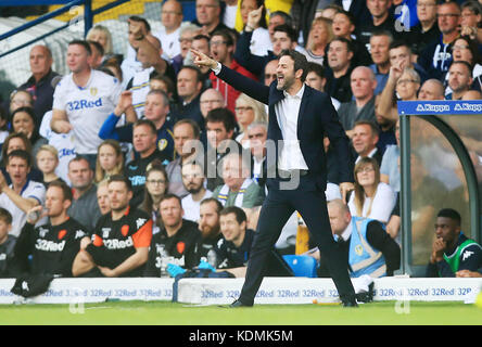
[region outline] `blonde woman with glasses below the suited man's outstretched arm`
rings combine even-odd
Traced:
[[[241,93],[236,100],[236,119],[240,127],[240,134],[236,138],[236,141],[241,143],[243,147],[249,149],[250,142],[248,141],[248,126],[253,121],[267,121],[268,116],[264,104]]]

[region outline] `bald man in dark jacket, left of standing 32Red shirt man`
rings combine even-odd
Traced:
[[[52,72],[52,53],[47,46],[34,46],[29,63],[31,76],[18,89],[26,89],[34,97],[34,111],[39,125],[46,112],[52,110],[54,90],[52,79],[59,74]]]

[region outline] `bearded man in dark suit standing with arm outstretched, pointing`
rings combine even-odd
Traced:
[[[340,188],[345,197],[353,189],[348,139],[339,121],[330,97],[305,86],[306,57],[294,51],[280,53],[277,80],[269,87],[234,73],[207,55],[191,50],[194,63],[210,66],[236,89],[269,105],[268,195],[263,204],[246,278],[231,307],[252,306],[265,273],[269,250],[294,210],[297,210],[327,258],[328,268],[344,306],[356,306],[343,256],[335,246],[327,211],[325,189],[327,164],[324,133],[328,134],[340,159]],[[271,157],[271,158],[270,158]],[[293,182],[295,184],[293,184]],[[296,184],[297,183],[297,184]]]

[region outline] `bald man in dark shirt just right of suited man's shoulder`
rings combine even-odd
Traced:
[[[375,116],[375,89],[377,78],[371,68],[358,66],[350,76],[350,86],[355,100],[343,102],[338,110],[340,121],[351,138],[353,126],[358,120],[377,121]]]

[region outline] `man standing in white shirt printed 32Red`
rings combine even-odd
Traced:
[[[64,76],[53,94],[51,128],[59,133],[74,133],[77,154],[86,156],[94,167],[97,150],[102,143],[99,130],[114,111],[122,87],[107,74],[92,69],[90,46],[74,40],[67,48],[71,74]]]

